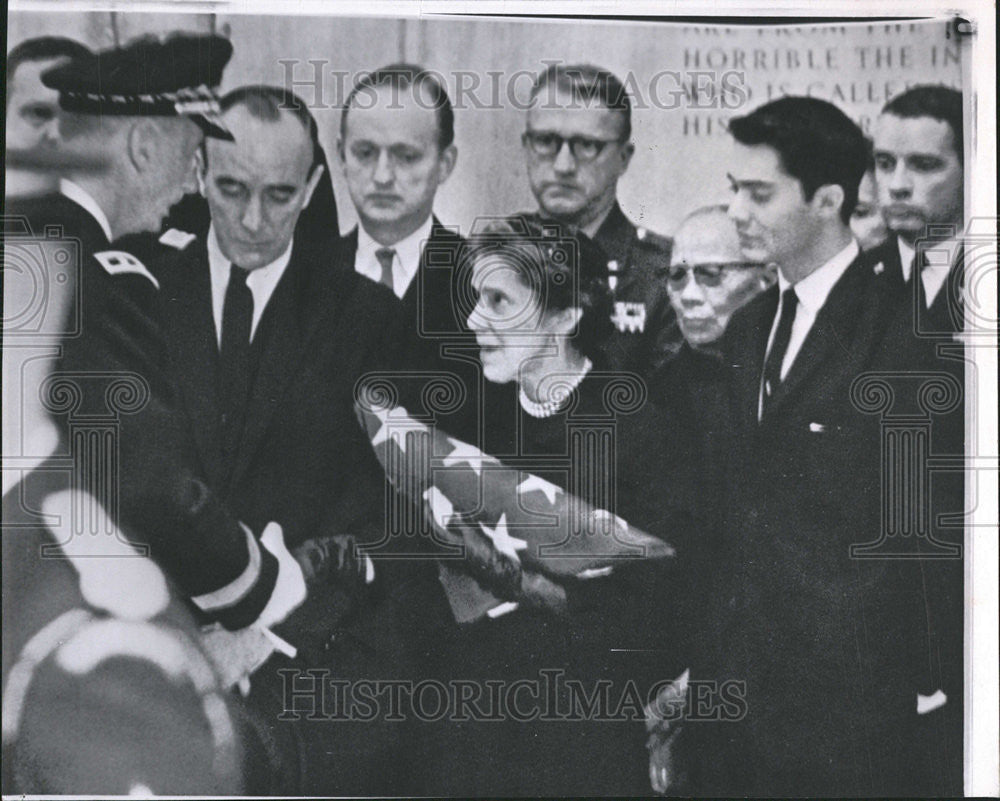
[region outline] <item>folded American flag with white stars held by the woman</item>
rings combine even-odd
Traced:
[[[496,598],[524,601],[528,582],[529,592],[537,590],[541,605],[548,605],[545,599],[555,602],[560,580],[606,575],[626,560],[674,554],[617,515],[415,420],[402,406],[380,404],[362,391],[356,408],[389,481],[423,506],[441,542],[456,546],[459,563],[445,554],[445,567],[462,572],[471,560],[478,584]],[[448,588],[449,581],[442,581]]]

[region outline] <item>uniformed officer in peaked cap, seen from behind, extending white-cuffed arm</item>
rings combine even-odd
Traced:
[[[147,545],[209,619],[240,629],[273,625],[298,606],[303,570],[280,527],[251,532],[190,468],[157,312],[159,283],[134,240],[157,231],[183,187],[195,185],[202,135],[231,138],[211,88],[231,53],[220,37],[175,34],[70,62],[43,81],[68,112],[67,148],[108,165],[98,174],[69,173],[77,217],[89,215],[105,242],[130,237],[92,253],[96,240],[83,244],[81,332],[65,342],[59,365],[73,400],[56,404],[76,487]],[[111,426],[117,447],[91,450],[95,420]]]

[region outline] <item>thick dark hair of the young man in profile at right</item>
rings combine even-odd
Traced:
[[[858,203],[858,186],[868,161],[865,137],[857,124],[833,103],[814,97],[782,97],[729,122],[729,132],[743,145],[767,145],[781,166],[812,200],[821,186],[844,190],[840,218],[846,225]]]

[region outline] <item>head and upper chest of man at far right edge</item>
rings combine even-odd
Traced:
[[[956,89],[916,86],[886,103],[875,122],[875,180],[891,234],[874,250],[876,269],[910,289],[908,302],[917,295],[917,323],[927,333],[962,328],[962,113]]]

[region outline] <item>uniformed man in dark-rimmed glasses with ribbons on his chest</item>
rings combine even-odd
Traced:
[[[607,70],[558,64],[536,78],[531,98],[522,141],[539,215],[582,230],[605,251],[616,329],[608,362],[648,376],[683,339],[660,278],[670,239],[633,225],[617,200],[635,151],[628,93]]]

